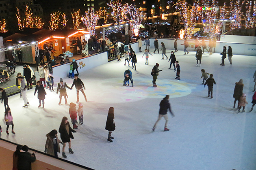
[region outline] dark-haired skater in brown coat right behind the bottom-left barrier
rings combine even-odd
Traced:
[[[57,134],[58,132],[55,129],[46,134],[47,139],[44,152],[54,157],[58,157],[58,152],[61,153],[60,143],[63,144]]]

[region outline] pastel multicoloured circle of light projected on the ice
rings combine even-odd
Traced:
[[[191,94],[191,85],[184,81],[158,79],[154,88],[152,79],[134,78],[134,87],[130,82],[129,87],[122,86],[124,78],[104,79],[100,81],[97,99],[100,103],[135,102],[145,98],[164,98],[167,94],[170,98],[178,98]],[[105,97],[103,97],[105,96]],[[106,97],[107,96],[107,97]]]

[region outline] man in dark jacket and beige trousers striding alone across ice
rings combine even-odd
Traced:
[[[164,131],[169,131],[169,129],[167,128],[167,124],[168,124],[167,111],[168,110],[170,111],[172,117],[174,117],[174,114],[171,111],[171,105],[170,105],[168,99],[169,99],[169,95],[166,95],[165,98],[163,98],[163,100],[159,104],[159,106],[160,106],[159,116],[158,116],[158,119],[157,119],[156,123],[154,124],[154,127],[152,129],[153,131],[156,129],[156,125],[157,125],[158,121],[160,121],[162,119],[162,117],[165,118],[165,129],[164,129]]]

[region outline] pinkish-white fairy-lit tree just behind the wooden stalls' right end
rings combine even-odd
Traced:
[[[81,18],[91,36],[95,35],[95,26],[98,19],[99,15],[94,12],[94,8],[89,8],[88,11],[85,11],[85,15]]]

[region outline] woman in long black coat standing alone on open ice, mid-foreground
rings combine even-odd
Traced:
[[[108,142],[113,142],[113,140],[111,140],[111,139],[114,139],[111,136],[111,133],[115,130],[115,121],[114,121],[114,119],[115,119],[114,108],[110,107],[108,109],[108,118],[107,118],[106,127],[105,127],[105,130],[108,130]]]

